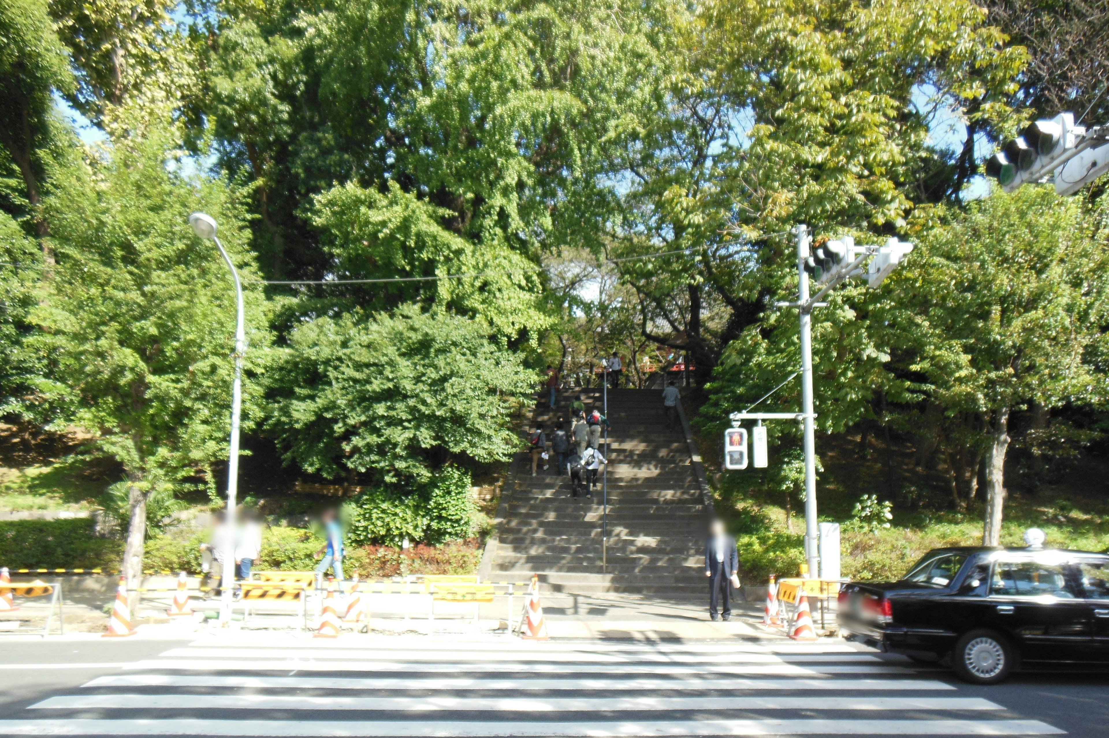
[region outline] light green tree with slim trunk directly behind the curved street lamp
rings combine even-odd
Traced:
[[[234,287],[218,252],[192,233],[189,213],[216,218],[238,269],[253,271],[237,193],[218,179],[169,171],[173,146],[159,129],[116,139],[110,159],[57,181],[45,212],[58,265],[34,314],[41,332],[29,341],[54,363],[54,426],[87,429],[124,469],[124,572],[133,586],[147,501],[167,488],[214,491],[214,465],[226,457]],[[248,291],[246,304],[250,366],[268,338],[261,293]],[[256,386],[247,377],[247,426]]]

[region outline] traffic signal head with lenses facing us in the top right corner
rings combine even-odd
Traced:
[[[996,179],[1006,192],[1037,182],[1077,153],[1085,133],[1085,128],[1075,125],[1072,113],[1032,121],[986,161],[986,175]]]

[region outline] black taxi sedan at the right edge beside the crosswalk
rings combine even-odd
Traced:
[[[903,578],[843,585],[843,635],[914,660],[950,658],[978,684],[1059,664],[1109,668],[1109,556],[937,548]]]

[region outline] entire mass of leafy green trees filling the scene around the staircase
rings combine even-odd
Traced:
[[[988,482],[996,540],[1010,435],[1052,454],[1081,436],[1059,413],[1101,413],[1106,231],[1098,188],[967,185],[1032,112],[1100,114],[1103,72],[1075,61],[1087,9],[986,6],[10,0],[0,407],[114,459],[135,575],[147,506],[221,487],[234,310],[205,210],[246,280],[253,441],[365,487],[359,542],[465,538],[533,370],[593,382],[620,350],[642,384],[684,356],[714,427],[796,368],[790,229],[896,233],[905,267],[814,321],[821,429],[912,436],[957,508]],[[795,497],[772,431],[762,483]]]

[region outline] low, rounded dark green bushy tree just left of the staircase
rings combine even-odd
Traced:
[[[448,462],[510,459],[509,414],[537,382],[487,326],[440,310],[321,317],[271,371],[269,426],[307,472],[421,485]]]

